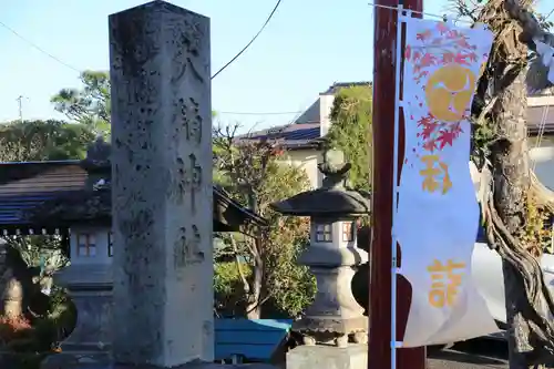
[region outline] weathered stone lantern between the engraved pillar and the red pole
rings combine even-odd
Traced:
[[[357,219],[370,211],[369,199],[346,187],[351,167],[339,151],[327,151],[318,165],[321,188],[300,193],[273,208],[285,215],[310,217],[310,245],[299,257],[317,279],[317,295],[306,315],[294,322],[306,346],[334,342],[346,347],[349,337],[367,342],[368,318],[356,301],[351,281],[368,253],[357,247]]]

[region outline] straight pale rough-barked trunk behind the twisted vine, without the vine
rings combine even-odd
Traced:
[[[499,141],[493,146],[494,205],[512,235],[525,227],[526,191],[530,185],[525,111],[526,88],[524,72],[516,71],[513,82],[500,94],[493,115],[496,119]],[[512,78],[509,78],[510,80]],[[505,81],[505,78],[501,81]],[[529,334],[519,301],[526,299],[521,274],[503,259],[506,322],[509,327],[510,369],[527,368],[521,352]],[[523,335],[523,336],[522,336]]]

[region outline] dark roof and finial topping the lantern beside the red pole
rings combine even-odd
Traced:
[[[350,163],[345,163],[345,154],[341,151],[326,151],[324,163],[318,164],[319,172],[325,175],[322,187],[299,193],[271,204],[271,207],[281,214],[296,216],[329,217],[369,214],[369,198],[346,186],[346,177],[350,167]]]

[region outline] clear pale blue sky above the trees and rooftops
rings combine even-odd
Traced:
[[[424,0],[425,12],[444,13],[444,0]],[[546,1],[541,0],[542,11]],[[147,1],[18,0],[0,22],[76,70],[107,70],[107,16]],[[257,32],[275,0],[173,0],[212,19],[212,70],[225,64]],[[213,81],[219,112],[296,112],[335,81],[371,80],[373,11],[368,0],[283,0],[256,42]],[[552,7],[552,6],[551,6]],[[0,122],[63,117],[50,96],[79,86],[78,72],[0,27]],[[286,124],[295,114],[220,114],[224,123],[257,127]]]

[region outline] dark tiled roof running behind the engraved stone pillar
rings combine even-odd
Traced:
[[[79,161],[0,163],[0,227],[109,218],[110,192],[88,191],[88,177]],[[265,219],[214,186],[216,203],[228,204],[254,224],[265,224]],[[37,217],[40,222],[32,222]]]

